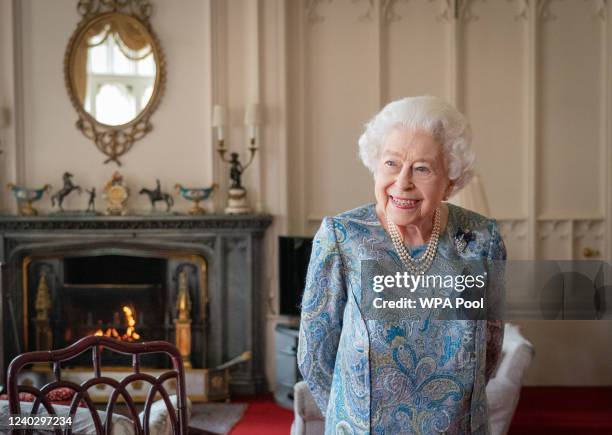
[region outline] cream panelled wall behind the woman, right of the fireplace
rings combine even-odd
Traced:
[[[373,201],[357,157],[384,104],[465,112],[511,259],[610,259],[605,0],[302,0],[288,5],[289,228]],[[612,385],[611,322],[519,322],[531,385]],[[585,337],[589,340],[585,340]]]

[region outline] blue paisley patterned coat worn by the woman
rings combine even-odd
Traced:
[[[430,273],[506,259],[494,220],[448,208]],[[465,245],[458,234],[469,235]],[[315,236],[298,365],[325,415],[325,433],[489,433],[485,385],[500,356],[502,322],[365,320],[360,262],[389,258],[399,262],[374,204],[325,218]],[[494,281],[488,286],[503,288],[502,275]]]

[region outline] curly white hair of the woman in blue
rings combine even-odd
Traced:
[[[467,118],[451,104],[438,97],[408,97],[387,104],[366,125],[359,138],[359,157],[374,174],[382,144],[397,128],[429,133],[442,145],[448,178],[453,182],[451,195],[461,190],[474,175],[472,133]]]

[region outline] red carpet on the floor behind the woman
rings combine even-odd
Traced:
[[[248,403],[230,435],[288,435],[293,412],[271,394]],[[509,435],[612,435],[612,387],[523,387]]]

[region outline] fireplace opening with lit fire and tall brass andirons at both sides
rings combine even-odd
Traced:
[[[70,250],[65,255],[23,259],[26,348],[58,349],[86,335],[165,340],[182,346],[188,365],[204,367],[205,259],[178,252],[115,251]],[[179,320],[179,295],[185,302],[184,322]],[[177,336],[181,324],[185,339]],[[75,359],[74,364],[85,365],[87,357]],[[129,365],[121,355],[113,357],[111,364]],[[162,368],[163,362],[145,357],[143,365]]]

